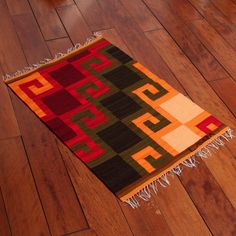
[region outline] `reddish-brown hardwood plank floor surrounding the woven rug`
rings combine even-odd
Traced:
[[[0,0],[0,73],[100,31],[236,129],[235,0]],[[139,209],[0,83],[0,235],[236,235],[236,139]]]

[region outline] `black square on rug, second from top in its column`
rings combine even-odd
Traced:
[[[137,73],[123,65],[103,76],[119,89],[127,88],[142,79]]]

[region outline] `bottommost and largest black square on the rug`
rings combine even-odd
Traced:
[[[120,156],[115,156],[92,169],[94,174],[113,192],[118,192],[141,176]]]

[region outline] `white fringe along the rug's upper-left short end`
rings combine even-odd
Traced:
[[[3,78],[3,81],[7,82],[8,80],[11,80],[13,79],[14,77],[17,77],[17,76],[21,76],[27,72],[30,72],[32,70],[35,70],[35,69],[38,69],[39,67],[53,61],[53,60],[56,60],[56,59],[59,59],[63,56],[65,56],[66,54],[70,53],[70,52],[73,52],[83,46],[86,46],[87,44],[89,44],[91,41],[93,41],[94,39],[96,39],[97,37],[101,36],[101,33],[100,32],[94,32],[93,33],[93,36],[91,36],[90,38],[88,38],[83,44],[80,44],[80,43],[76,43],[74,47],[71,47],[67,50],[67,52],[65,53],[57,53],[54,58],[52,59],[48,59],[48,58],[45,58],[44,60],[40,61],[39,63],[35,63],[31,66],[26,66],[23,70],[17,70],[14,74],[5,74],[2,76]]]

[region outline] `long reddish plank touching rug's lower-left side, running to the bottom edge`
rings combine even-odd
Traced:
[[[87,228],[53,134],[16,96],[12,101],[52,234]]]

